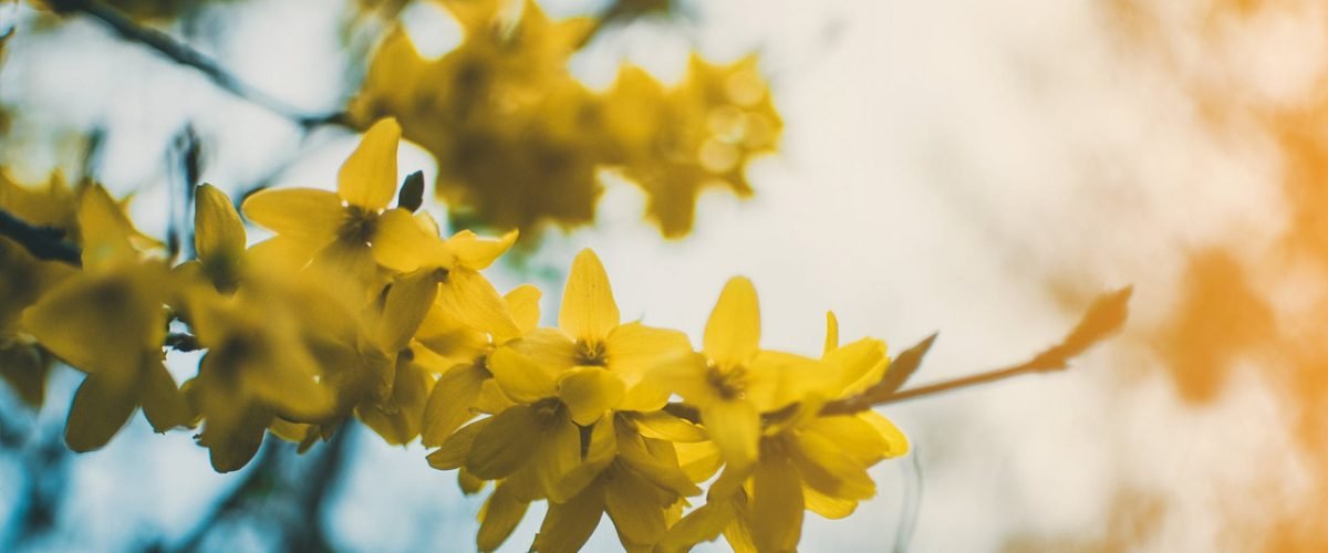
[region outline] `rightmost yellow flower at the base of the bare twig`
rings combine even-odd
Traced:
[[[770,416],[756,464],[726,468],[706,505],[675,525],[660,549],[685,550],[722,532],[734,550],[794,550],[803,511],[843,519],[875,496],[867,468],[907,454],[908,440],[875,411],[819,414],[825,400],[861,393],[888,366],[884,342],[863,338],[841,347],[838,341],[838,321],[829,313],[822,358],[829,394],[809,395],[793,411]]]

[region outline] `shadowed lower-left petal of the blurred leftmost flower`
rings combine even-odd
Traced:
[[[65,443],[77,452],[100,450],[134,414],[134,390],[100,374],[84,379],[74,393],[65,426]]]

